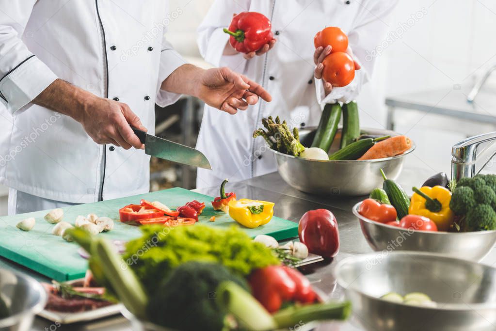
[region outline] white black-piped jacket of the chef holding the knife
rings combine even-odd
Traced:
[[[164,39],[182,13],[167,2],[0,0],[0,101],[12,116],[2,184],[73,203],[149,190],[142,150],[98,145],[72,118],[31,101],[61,78],[128,104],[153,133],[154,104],[179,98],[160,85],[185,63]]]

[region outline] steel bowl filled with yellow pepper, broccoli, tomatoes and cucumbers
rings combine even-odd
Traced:
[[[445,179],[429,178],[420,189],[412,188],[412,197],[394,180],[384,179],[382,188],[353,207],[373,250],[423,251],[480,261],[496,244],[496,175],[462,178],[450,188]]]

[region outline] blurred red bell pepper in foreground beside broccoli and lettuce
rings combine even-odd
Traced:
[[[315,292],[307,277],[286,266],[256,269],[248,277],[253,296],[268,312],[278,311],[284,302],[312,303]]]

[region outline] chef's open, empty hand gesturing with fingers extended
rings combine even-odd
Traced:
[[[258,97],[270,102],[272,97],[259,84],[228,67],[204,70],[198,80],[196,95],[207,105],[235,114],[258,102]]]

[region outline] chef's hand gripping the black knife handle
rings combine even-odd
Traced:
[[[79,122],[97,144],[112,144],[126,150],[131,147],[144,148],[129,124],[143,131],[146,128],[129,106],[122,102],[91,98],[87,101]]]

